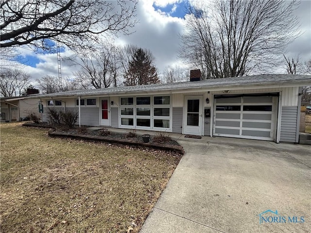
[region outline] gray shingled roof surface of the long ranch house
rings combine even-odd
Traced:
[[[311,75],[295,75],[295,74],[262,74],[253,76],[243,76],[234,78],[224,79],[207,79],[196,82],[181,82],[181,83],[161,83],[161,84],[150,84],[150,85],[139,85],[139,86],[119,86],[119,87],[108,87],[100,89],[88,89],[88,90],[73,90],[58,92],[46,95],[40,95],[37,97],[48,98],[48,97],[69,97],[69,96],[91,96],[91,95],[112,95],[122,93],[136,93],[136,92],[157,92],[157,91],[177,91],[187,89],[209,89],[213,90],[220,87],[234,87],[243,86],[247,87],[250,85],[272,85],[289,83],[293,86],[311,85]]]

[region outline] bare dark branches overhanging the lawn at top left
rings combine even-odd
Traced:
[[[53,39],[69,48],[89,47],[99,34],[128,34],[136,1],[4,0],[0,3],[1,47],[28,45],[52,50]]]

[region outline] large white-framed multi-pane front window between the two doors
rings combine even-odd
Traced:
[[[172,130],[170,96],[120,98],[120,124],[124,128]]]

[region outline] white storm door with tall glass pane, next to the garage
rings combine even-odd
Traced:
[[[184,134],[202,135],[202,96],[186,96]]]

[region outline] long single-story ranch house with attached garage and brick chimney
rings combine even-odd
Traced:
[[[47,108],[79,112],[79,125],[298,142],[300,87],[311,76],[265,74],[41,95]],[[298,107],[299,106],[299,107]]]

